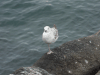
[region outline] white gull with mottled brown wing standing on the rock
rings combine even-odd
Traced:
[[[47,54],[53,53],[50,50],[49,45],[51,43],[54,43],[58,39],[58,30],[56,28],[56,25],[54,24],[54,27],[50,28],[49,26],[44,27],[44,32],[42,34],[42,40],[48,44],[49,52]]]

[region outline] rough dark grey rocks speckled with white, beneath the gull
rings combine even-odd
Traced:
[[[65,39],[66,40],[66,39]],[[100,70],[100,31],[96,34],[66,42],[45,53],[32,67],[39,68],[39,74],[21,74],[21,68],[14,75],[95,75]],[[45,73],[45,74],[43,74]]]

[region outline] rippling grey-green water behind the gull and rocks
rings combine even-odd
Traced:
[[[0,0],[0,75],[32,66],[44,53],[43,27],[56,24],[51,49],[100,30],[100,0]]]

